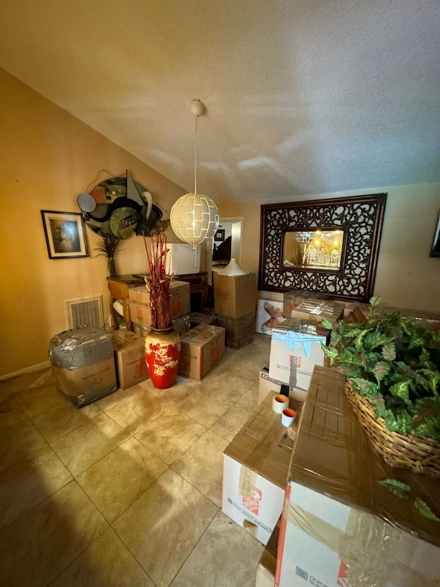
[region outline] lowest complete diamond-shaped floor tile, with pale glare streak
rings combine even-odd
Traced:
[[[156,586],[168,587],[217,511],[197,489],[168,470],[113,529]]]

